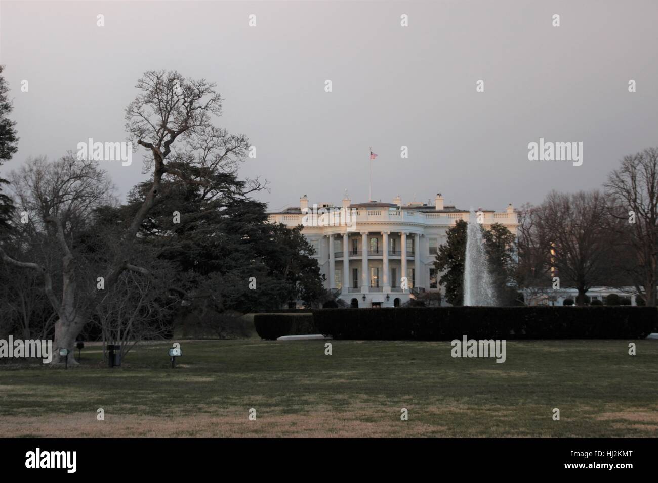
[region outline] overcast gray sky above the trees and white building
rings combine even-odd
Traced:
[[[256,145],[240,173],[268,179],[257,197],[272,210],[344,189],[366,201],[370,146],[375,199],[440,191],[502,209],[599,187],[624,154],[658,145],[656,1],[1,1],[0,16],[20,135],[3,174],[89,137],[124,141],[152,69],[217,83],[216,124]],[[582,166],[529,161],[540,137],[582,142]],[[137,155],[104,167],[120,195],[145,177]]]

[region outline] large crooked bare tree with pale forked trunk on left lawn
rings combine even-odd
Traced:
[[[126,130],[134,145],[147,150],[145,168],[152,170],[153,176],[151,188],[141,206],[120,235],[113,260],[103,268],[105,287],[113,287],[126,270],[149,275],[137,260],[132,260],[132,247],[141,223],[157,202],[165,175],[184,184],[209,184],[204,175],[210,166],[230,166],[241,160],[247,149],[244,136],[228,135],[212,124],[213,116],[221,114],[222,108],[222,99],[214,90],[215,84],[205,80],[186,80],[178,72],[149,71],[136,87],[139,94],[126,108]],[[182,162],[194,170],[180,170]],[[53,290],[51,267],[16,260],[0,248],[0,256],[5,262],[34,269],[43,278],[45,293],[59,317],[55,324],[57,353],[62,348],[68,348],[72,353],[76,336],[91,319],[104,295],[103,290],[96,290],[88,297],[81,296],[84,287],[89,287],[89,281],[78,284],[74,267],[79,260],[76,260],[65,234],[66,217],[79,216],[75,210],[66,210],[66,206],[71,203],[91,206],[95,195],[100,195],[95,190],[101,180],[96,178],[95,183],[91,182],[98,172],[80,164],[80,160],[70,160],[70,163],[70,172],[63,183],[55,183],[56,189],[44,191],[38,185],[32,187],[32,191],[38,194],[32,200],[36,204],[34,208],[49,225],[62,252],[61,296],[58,297]],[[190,171],[194,174],[190,175]],[[254,189],[259,189],[259,186]],[[19,193],[22,193],[21,189]]]

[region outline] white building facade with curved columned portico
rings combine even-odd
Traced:
[[[519,221],[512,204],[503,212],[482,210],[485,228],[500,223],[517,234]],[[299,206],[269,213],[271,223],[303,225],[303,235],[313,244],[315,258],[326,277],[325,287],[353,307],[401,306],[427,292],[439,292],[434,260],[446,232],[457,220],[468,221],[470,212],[444,206],[443,196],[434,204],[318,203],[307,196]]]

